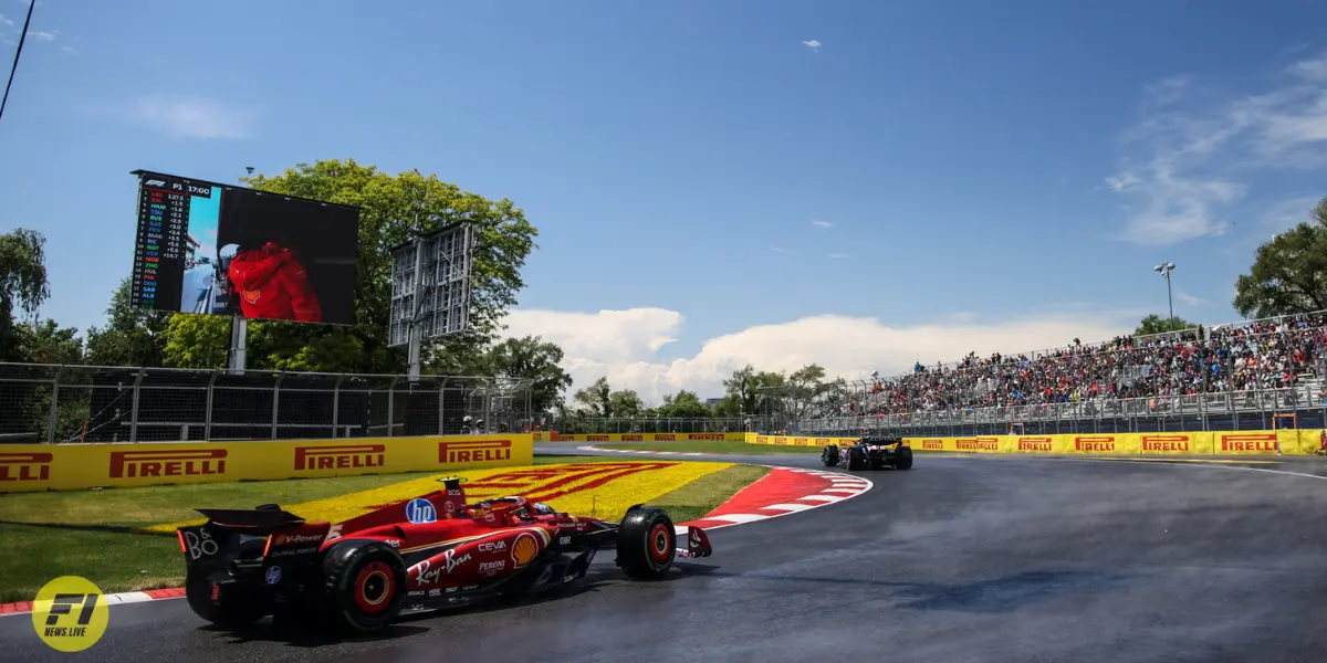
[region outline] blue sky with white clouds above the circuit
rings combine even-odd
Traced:
[[[1105,338],[1165,312],[1166,260],[1177,314],[1231,321],[1327,195],[1327,4],[1196,7],[41,0],[0,231],[48,236],[44,314],[85,329],[131,170],[435,172],[540,228],[512,333],[648,395]]]

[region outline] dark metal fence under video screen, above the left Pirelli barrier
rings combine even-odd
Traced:
[[[0,363],[0,442],[455,435],[531,426],[531,381]]]

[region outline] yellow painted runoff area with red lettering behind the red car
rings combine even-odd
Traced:
[[[618,518],[633,504],[666,495],[731,465],[731,463],[621,461],[472,469],[411,479],[283,508],[309,521],[340,522],[386,504],[437,491],[438,479],[443,476],[460,476],[466,480],[462,487],[466,489],[468,503],[520,495],[577,516]],[[198,522],[203,520],[167,522],[149,529],[173,532],[176,526]]]

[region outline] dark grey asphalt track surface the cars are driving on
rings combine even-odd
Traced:
[[[175,599],[114,607],[101,642],[61,654],[15,615],[0,658],[1320,662],[1327,480],[1278,472],[1323,469],[918,455],[857,499],[717,530],[713,557],[661,582],[626,581],[604,554],[567,597],[340,642],[214,631]]]

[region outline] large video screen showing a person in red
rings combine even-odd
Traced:
[[[354,324],[360,210],[137,171],[134,306]]]

